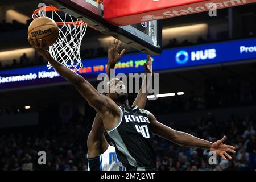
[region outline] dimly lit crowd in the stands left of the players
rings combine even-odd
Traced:
[[[55,123],[56,124],[56,123]],[[1,170],[86,170],[86,138],[91,121],[73,117],[71,122],[47,127],[28,127],[0,135]],[[47,164],[38,164],[45,151]]]

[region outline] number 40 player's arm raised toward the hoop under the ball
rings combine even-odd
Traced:
[[[101,117],[104,117],[104,115],[109,117],[119,117],[119,108],[114,101],[110,100],[110,98],[106,96],[100,95],[97,90],[94,89],[94,87],[82,76],[54,60],[50,53],[44,48],[42,39],[40,39],[38,43],[36,39],[28,38],[28,42],[30,42],[30,45],[34,47],[36,51],[38,51],[38,53],[44,57],[44,59],[51,63],[53,68],[62,77],[76,86],[77,90],[79,90],[82,96],[89,102],[90,106],[94,107]],[[112,125],[115,125],[115,123],[111,122],[109,124],[110,128],[112,128]]]

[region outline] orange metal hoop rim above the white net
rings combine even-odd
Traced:
[[[60,9],[57,9],[57,7],[54,7],[54,6],[39,7],[38,9],[36,9],[33,12],[32,18],[33,19],[39,18],[38,16],[36,16],[36,14],[38,14],[38,12],[40,10],[42,10],[43,8],[45,9],[45,11],[61,11]],[[56,24],[59,25],[59,26],[63,26],[64,24],[65,25],[72,24],[72,25],[75,25],[75,26],[84,26],[87,23],[83,22],[82,20],[79,20],[79,21],[76,21],[76,22],[56,22]]]

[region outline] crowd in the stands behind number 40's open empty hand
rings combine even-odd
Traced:
[[[218,156],[216,165],[209,164],[209,150],[180,147],[163,139],[156,139],[154,145],[158,154],[158,170],[255,170],[255,119],[256,113],[246,119],[232,115],[228,121],[216,121],[214,117],[198,118],[191,125],[181,128],[181,131],[211,142],[227,136],[226,143],[236,146],[237,153],[232,155],[233,160],[223,160]],[[171,127],[175,128],[175,125],[172,124]]]

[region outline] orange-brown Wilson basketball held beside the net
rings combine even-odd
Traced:
[[[59,27],[51,18],[36,18],[28,27],[28,36],[36,40],[42,39],[47,47],[52,46],[59,36]]]

